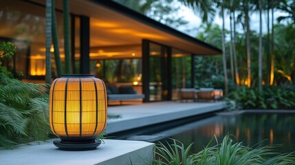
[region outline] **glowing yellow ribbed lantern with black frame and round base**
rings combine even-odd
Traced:
[[[92,75],[63,75],[50,88],[50,127],[62,150],[89,150],[107,122],[105,83]]]

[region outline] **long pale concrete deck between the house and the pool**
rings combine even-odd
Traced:
[[[107,133],[126,131],[151,124],[168,122],[193,115],[219,111],[226,107],[225,102],[151,102],[116,107],[108,107],[109,115],[121,118],[107,121]]]

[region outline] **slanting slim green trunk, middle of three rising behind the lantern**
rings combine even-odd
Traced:
[[[56,23],[54,0],[52,0],[52,43],[54,46],[54,59],[56,64],[57,75],[58,77],[61,77],[61,75],[63,74],[63,67],[61,65],[61,57],[59,54],[58,30],[57,30],[57,23]]]

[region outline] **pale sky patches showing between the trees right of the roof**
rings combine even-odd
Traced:
[[[175,3],[179,3],[179,2],[175,2]],[[190,36],[195,37],[197,35],[197,30],[194,30],[193,32],[188,32],[188,29],[198,28],[201,25],[201,19],[199,17],[197,17],[193,13],[192,10],[190,10],[189,8],[186,8],[186,6],[182,5],[181,3],[179,3],[178,5],[181,6],[181,8],[179,10],[179,16],[184,17],[184,19],[186,21],[188,21],[187,25],[179,27],[178,30],[181,32],[184,32]],[[287,15],[287,14],[283,13],[283,12],[279,12],[279,11],[274,12],[274,23],[276,23],[277,17],[285,16],[285,15]],[[270,18],[271,17],[272,17],[272,15],[270,13]],[[226,22],[225,28],[227,30],[230,30],[230,17],[228,16],[228,14],[225,14],[225,22]],[[215,15],[215,19],[214,19],[213,23],[216,23],[217,25],[222,27],[222,18],[219,17],[218,15]],[[266,15],[266,13],[263,13],[262,23],[263,23],[262,31],[263,31],[263,33],[266,33],[267,32],[267,15]],[[259,32],[259,12],[250,14],[250,29],[255,30],[256,32]],[[241,25],[237,26],[237,32],[243,32],[243,28],[241,27]]]

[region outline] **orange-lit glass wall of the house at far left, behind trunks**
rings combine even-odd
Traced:
[[[61,60],[63,53],[63,13],[56,12]],[[45,77],[45,7],[25,1],[0,1],[0,41],[11,41],[17,53],[5,65],[22,80],[36,79],[43,83]],[[53,52],[53,48],[51,50]],[[21,73],[21,74],[20,74]],[[52,77],[56,77],[52,53]]]

